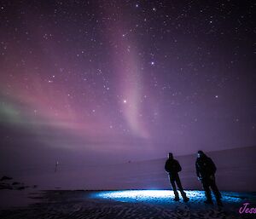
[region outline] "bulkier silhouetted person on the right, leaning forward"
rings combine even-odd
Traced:
[[[215,172],[216,166],[213,163],[212,159],[207,157],[205,153],[202,151],[198,151],[197,159],[195,162],[196,168],[196,175],[198,179],[201,181],[202,186],[205,190],[207,200],[205,201],[206,204],[213,204],[212,203],[212,194],[210,187],[212,188],[212,192],[216,198],[217,204],[222,206],[221,202],[221,194],[218,191],[218,187],[215,182]]]

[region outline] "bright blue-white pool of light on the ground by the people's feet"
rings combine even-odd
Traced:
[[[190,200],[205,200],[203,191],[185,191]],[[92,194],[96,199],[113,199],[122,202],[161,202],[169,203],[173,201],[174,194],[172,190],[120,190],[120,191],[103,191]],[[181,197],[180,197],[181,198]],[[181,198],[182,200],[182,198]],[[232,193],[224,194],[223,201],[237,202],[240,198],[234,197]]]

